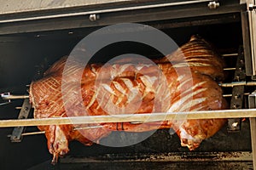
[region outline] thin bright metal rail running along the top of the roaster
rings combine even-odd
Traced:
[[[92,10],[92,11],[72,13],[72,14],[53,14],[48,16],[28,17],[23,19],[0,20],[0,23],[20,22],[20,21],[28,21],[28,20],[55,19],[55,18],[79,16],[79,15],[86,15],[86,14],[113,13],[113,12],[119,12],[119,11],[129,11],[129,10],[137,10],[137,9],[145,9],[145,8],[162,8],[162,7],[171,7],[171,6],[193,4],[193,3],[206,3],[210,1],[211,0],[194,0],[194,1],[183,1],[183,2],[177,2],[177,3],[158,3],[158,4],[151,4],[151,5],[132,6],[132,7],[126,7],[126,8],[108,8],[108,9]]]

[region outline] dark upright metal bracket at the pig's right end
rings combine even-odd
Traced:
[[[245,62],[243,55],[243,48],[239,48],[237,60],[236,60],[236,71],[234,82],[245,81]],[[232,89],[232,98],[230,101],[230,109],[241,109],[243,103],[244,86],[235,86]],[[234,118],[228,119],[228,132],[238,132],[241,129],[241,119]]]

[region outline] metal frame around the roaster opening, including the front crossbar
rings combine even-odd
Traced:
[[[214,14],[232,14],[241,13],[242,31],[245,47],[246,69],[247,75],[256,75],[256,12],[251,5],[255,5],[254,0],[247,0],[245,5],[236,3],[227,3],[223,1],[218,8],[208,8],[210,1],[189,1],[183,3],[147,3],[137,6],[129,3],[129,7],[124,8],[118,5],[116,8],[109,8],[109,3],[101,6],[102,9],[96,7],[80,8],[79,12],[75,12],[76,8],[70,10],[51,11],[44,9],[37,13],[34,11],[20,11],[18,14],[2,14],[0,15],[0,35],[26,33],[35,31],[53,31],[64,29],[75,29],[94,26],[108,26],[120,22],[146,22],[152,20],[172,20],[189,17],[202,17]],[[111,4],[113,6],[113,4]],[[86,6],[84,6],[86,7]],[[154,8],[154,10],[152,10]],[[246,11],[247,9],[247,11]],[[246,12],[245,12],[246,11]],[[15,17],[14,17],[15,16]],[[14,18],[13,18],[14,17]],[[72,20],[72,22],[71,22]],[[247,27],[248,26],[248,27]],[[250,69],[252,68],[252,69]],[[255,94],[250,95],[249,99],[255,98]],[[252,103],[252,102],[250,102]],[[255,100],[254,100],[255,103]],[[250,108],[255,108],[251,105]],[[182,114],[182,113],[180,113]],[[185,114],[186,119],[201,118],[228,118],[228,117],[250,117],[251,137],[253,149],[253,167],[256,169],[256,110],[229,110],[229,111],[198,111]],[[49,124],[71,124],[71,123],[90,123],[91,119],[95,122],[144,122],[148,117],[154,121],[162,121],[166,119],[177,118],[177,113],[169,114],[140,114],[132,116],[84,116],[84,117],[61,117],[47,119],[28,119],[28,120],[7,120],[0,121],[0,127],[16,127],[16,126],[36,126]],[[130,119],[127,119],[130,117]],[[184,118],[184,117],[183,117]],[[96,121],[97,120],[97,121]]]

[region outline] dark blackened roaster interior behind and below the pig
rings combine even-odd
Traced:
[[[225,20],[224,20],[225,19]],[[236,68],[236,58],[239,53],[239,48],[243,46],[241,34],[241,18],[240,14],[224,14],[211,15],[209,17],[194,17],[178,20],[154,20],[142,22],[148,26],[164,31],[168,36],[177,42],[177,45],[182,45],[189,41],[189,37],[195,34],[205,38],[208,42],[218,49],[220,54],[224,55],[224,60],[227,68]],[[11,91],[12,94],[25,94],[26,85],[29,84],[37,71],[42,74],[42,71],[47,69],[55,60],[60,59],[64,55],[68,55],[75,45],[87,36],[90,32],[96,31],[100,27],[41,31],[32,33],[9,34],[0,37],[0,93]],[[224,35],[224,36],[223,36]],[[119,42],[110,44],[108,47],[102,48],[90,61],[91,62],[106,62],[119,54],[141,54],[148,58],[159,57],[161,54],[144,44],[134,42]],[[232,55],[229,55],[232,54]],[[234,78],[234,69],[227,72],[225,82],[232,82]],[[250,77],[247,77],[250,80]],[[232,88],[223,88],[224,94],[232,94]],[[246,88],[246,94],[253,92],[253,87]],[[226,95],[226,99],[230,102],[231,96]],[[22,105],[22,100],[15,100],[9,105],[0,105],[1,119],[16,118],[19,110],[15,107]],[[243,108],[247,108],[247,96],[244,97]],[[32,117],[32,114],[30,115]],[[1,145],[0,158],[3,164],[1,169],[20,168],[38,169],[56,168],[56,169],[113,169],[127,167],[127,169],[154,168],[158,169],[163,166],[163,169],[169,168],[186,168],[186,167],[201,167],[209,166],[209,169],[225,168],[226,162],[206,164],[204,161],[209,161],[209,156],[200,155],[204,152],[247,152],[251,151],[249,122],[244,120],[241,122],[241,130],[237,133],[228,133],[227,126],[224,126],[211,139],[202,142],[201,146],[193,152],[189,152],[187,148],[180,145],[177,134],[168,129],[158,130],[151,137],[139,144],[134,144],[123,148],[112,148],[94,144],[86,147],[79,142],[70,144],[70,152],[68,158],[84,158],[83,161],[76,162],[74,165],[68,159],[61,159],[60,164],[55,167],[49,165],[51,156],[47,150],[46,139],[44,135],[25,136],[20,143],[11,143],[7,135],[12,132],[13,128],[3,128],[0,131]],[[37,127],[27,127],[26,132],[37,131]],[[139,133],[124,133],[113,132],[108,140],[119,139],[123,136],[128,138],[136,138]],[[106,139],[102,139],[106,140]],[[140,156],[158,156],[165,153],[177,153],[178,156],[191,156],[200,158],[200,162],[186,162],[180,164],[168,164],[155,161],[142,161],[145,157]],[[191,154],[192,153],[192,154]],[[177,156],[175,155],[175,156]],[[162,156],[162,155],[161,155]],[[90,161],[86,163],[85,158],[92,157],[96,162]],[[190,158],[191,158],[190,157]],[[106,161],[105,163],[102,162]],[[121,160],[121,162],[110,161]],[[87,160],[88,161],[88,160]],[[15,163],[14,163],[15,162]],[[75,161],[73,161],[75,162]],[[41,167],[40,167],[41,166]],[[231,163],[230,166],[235,167],[236,163]],[[252,163],[247,165],[252,167]],[[251,166],[251,167],[250,167]],[[236,166],[237,167],[237,166]],[[237,167],[239,169],[239,167]],[[241,167],[242,168],[242,167]]]

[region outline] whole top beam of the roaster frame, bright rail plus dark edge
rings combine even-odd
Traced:
[[[195,3],[196,2],[196,3]],[[182,3],[157,3],[144,6],[108,7],[101,10],[80,9],[81,12],[74,13],[66,11],[65,14],[20,14],[17,20],[0,15],[0,35],[35,32],[54,31],[64,29],[75,29],[95,26],[108,26],[123,22],[147,22],[154,20],[172,20],[190,17],[207,17],[214,14],[235,14],[246,9],[246,5],[223,1],[218,8],[209,8],[209,1],[186,1]],[[154,10],[153,10],[154,9]],[[97,14],[96,20],[91,21],[90,16]],[[93,18],[93,17],[92,17]],[[98,18],[98,19],[97,19]],[[219,17],[221,18],[221,17]]]

